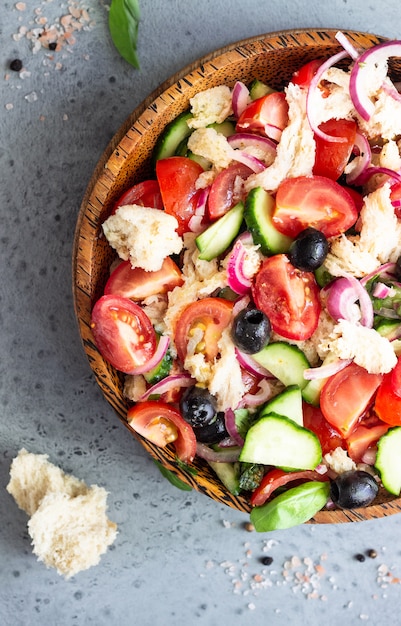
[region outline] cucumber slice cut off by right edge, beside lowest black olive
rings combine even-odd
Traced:
[[[390,428],[377,443],[375,468],[383,487],[395,496],[401,493],[401,426]]]

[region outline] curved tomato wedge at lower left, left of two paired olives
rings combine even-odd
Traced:
[[[127,420],[135,432],[155,445],[164,448],[173,443],[183,463],[193,461],[196,454],[195,433],[170,404],[152,400],[138,402],[128,410]]]

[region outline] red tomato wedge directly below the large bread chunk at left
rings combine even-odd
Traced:
[[[120,263],[110,275],[104,294],[116,294],[132,300],[167,293],[182,285],[181,270],[170,257],[166,257],[160,270],[147,272],[141,267],[131,267],[130,261]]]

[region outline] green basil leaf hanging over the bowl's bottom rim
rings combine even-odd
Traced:
[[[251,511],[251,522],[258,532],[291,528],[311,519],[327,503],[330,483],[311,481],[293,487],[263,506]]]

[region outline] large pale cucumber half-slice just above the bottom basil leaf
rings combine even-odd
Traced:
[[[322,460],[322,448],[311,430],[271,413],[250,427],[239,460],[288,469],[315,469]]]

